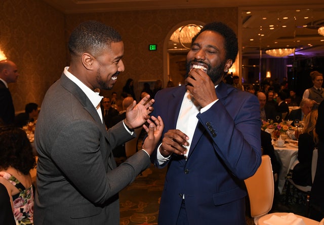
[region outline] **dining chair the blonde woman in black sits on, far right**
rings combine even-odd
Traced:
[[[317,153],[317,148],[313,149],[313,157],[312,157],[312,165],[311,165],[311,176],[312,176],[312,183],[314,181],[315,178],[315,173],[316,173],[316,167],[317,167],[317,157],[318,157],[318,153]],[[295,164],[296,165],[296,164]],[[291,168],[291,170],[294,168],[294,166]],[[296,184],[292,178],[287,178],[287,180],[294,185],[298,190],[300,190],[303,194],[306,195],[306,211],[307,211],[307,215],[309,215],[309,197],[310,197],[310,192],[312,189],[311,185],[307,185],[307,186],[302,186],[302,185],[298,185]],[[286,202],[288,202],[288,197],[289,197],[289,187],[287,187],[286,189]]]

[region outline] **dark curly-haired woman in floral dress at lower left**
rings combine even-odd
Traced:
[[[33,223],[34,190],[29,171],[36,166],[25,131],[0,127],[0,183],[12,197],[17,224]]]

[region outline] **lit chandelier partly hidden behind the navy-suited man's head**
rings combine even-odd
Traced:
[[[170,37],[170,41],[180,43],[184,48],[190,49],[192,37],[194,37],[201,29],[196,24],[188,24],[179,27]]]

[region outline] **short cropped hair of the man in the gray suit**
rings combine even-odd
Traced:
[[[98,21],[80,23],[71,33],[68,48],[71,56],[88,52],[94,56],[110,44],[121,42],[120,34],[112,27]]]

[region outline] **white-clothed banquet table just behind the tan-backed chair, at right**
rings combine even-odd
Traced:
[[[298,161],[298,146],[295,146],[290,143],[286,143],[284,147],[278,147],[273,143],[274,154],[281,164],[281,169],[278,176],[278,189],[279,192],[282,192],[284,188],[286,175],[289,172],[289,169]]]

